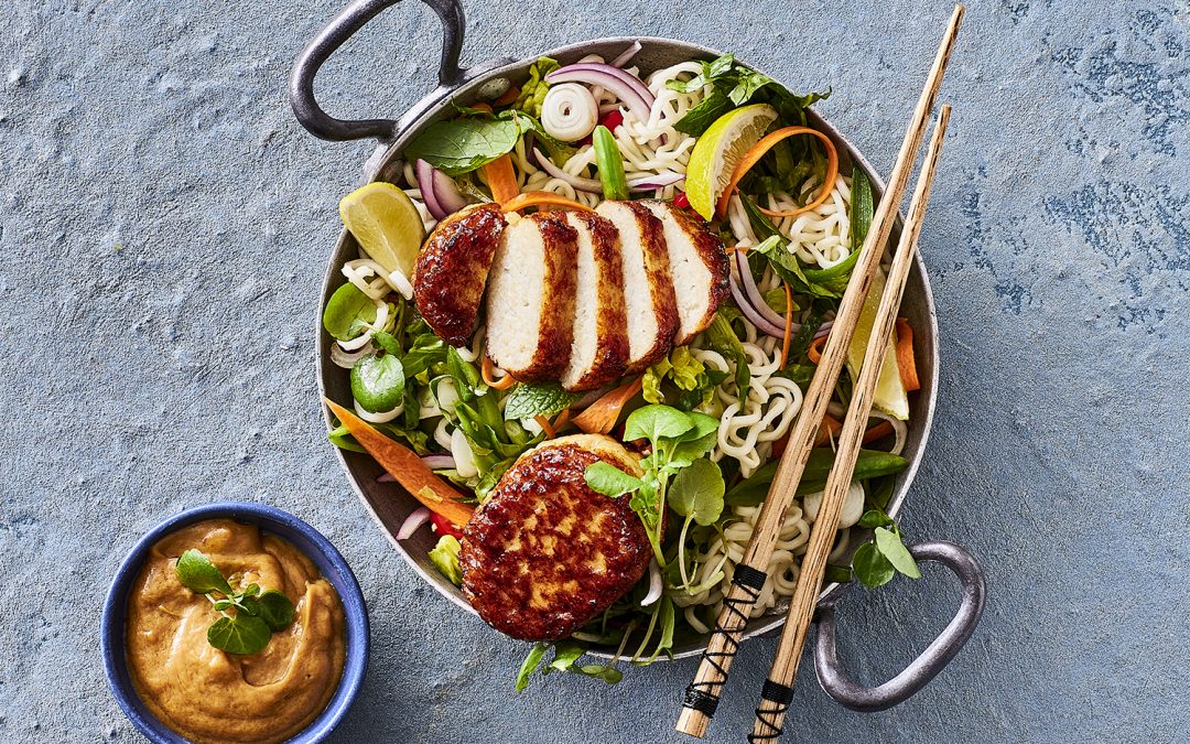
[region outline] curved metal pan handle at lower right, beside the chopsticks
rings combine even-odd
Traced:
[[[971,638],[983,614],[987,583],[978,561],[953,543],[920,543],[909,549],[917,561],[941,563],[954,571],[963,582],[963,601],[950,625],[934,638],[921,656],[888,682],[865,687],[854,682],[839,663],[834,644],[834,601],[819,608],[818,645],[814,649],[814,669],[819,684],[835,702],[862,712],[883,711],[904,702],[934,679],[963,645]]]

